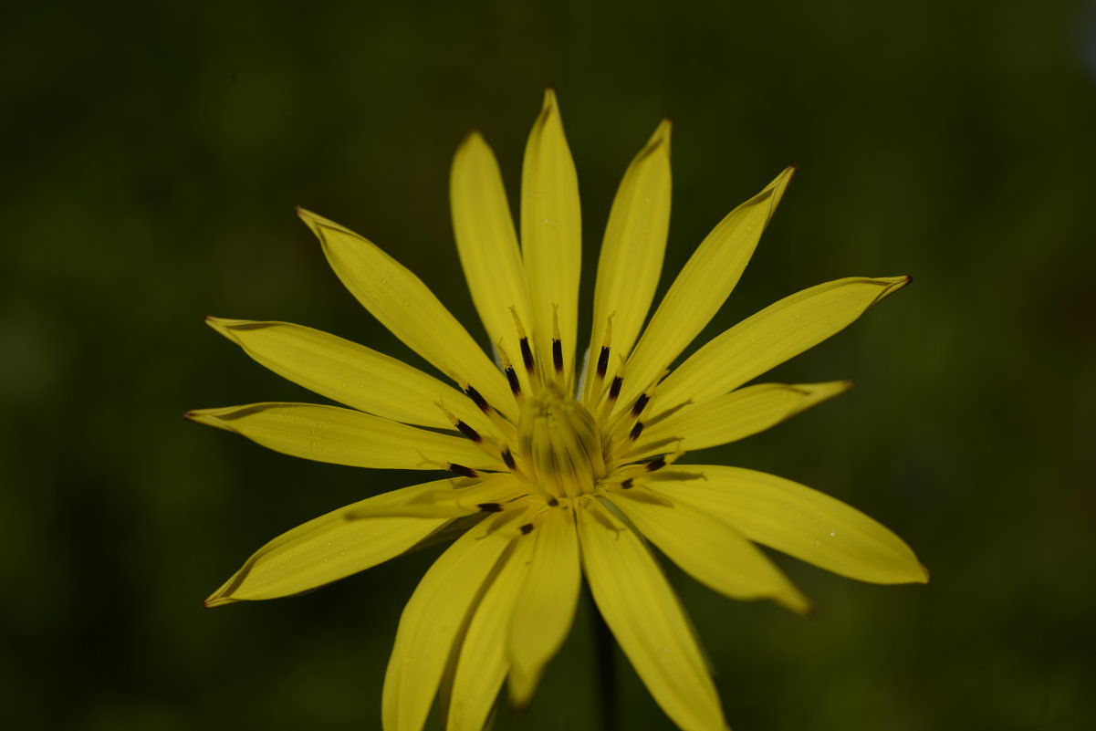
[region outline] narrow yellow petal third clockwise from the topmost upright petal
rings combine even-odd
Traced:
[[[717,335],[659,387],[659,409],[704,403],[818,345],[910,283],[907,276],[848,277],[785,297]]]

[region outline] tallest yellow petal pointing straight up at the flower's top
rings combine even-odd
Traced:
[[[533,306],[537,356],[548,367],[552,322],[558,318],[563,368],[569,375],[578,336],[582,221],[579,181],[552,89],[545,92],[544,107],[525,147],[522,252]]]

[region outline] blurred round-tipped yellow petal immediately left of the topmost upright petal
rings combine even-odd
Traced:
[[[472,301],[492,343],[518,358],[514,312],[533,325],[517,232],[494,153],[478,132],[457,149],[449,175],[453,230]],[[511,309],[513,308],[513,309]],[[516,368],[525,378],[525,370]]]

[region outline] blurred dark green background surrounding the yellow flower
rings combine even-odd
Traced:
[[[379,727],[399,612],[436,551],[297,598],[199,602],[277,533],[422,475],[184,422],[309,398],[202,318],[407,352],[340,287],[301,204],[472,323],[452,153],[480,128],[516,201],[555,83],[591,265],[664,115],[663,288],[724,213],[801,167],[709,332],[826,279],[916,279],[773,375],[852,378],[849,395],[690,455],[841,498],[933,571],[886,587],[781,559],[818,605],[808,620],[672,571],[731,724],[1092,728],[1092,3],[41,2],[5,10],[0,39],[0,719]],[[498,729],[592,728],[589,619]],[[620,666],[625,728],[671,728]]]

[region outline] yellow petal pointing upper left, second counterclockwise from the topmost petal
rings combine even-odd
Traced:
[[[323,244],[331,269],[381,324],[494,408],[515,413],[505,377],[419,277],[357,233],[302,208],[298,213]]]

